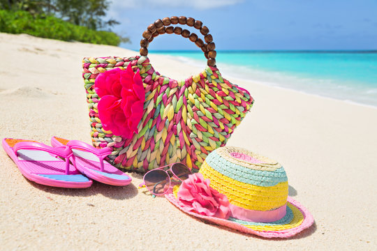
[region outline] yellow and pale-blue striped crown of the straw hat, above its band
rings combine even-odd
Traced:
[[[216,149],[209,153],[199,172],[235,206],[270,211],[286,204],[288,178],[284,168],[246,149]]]

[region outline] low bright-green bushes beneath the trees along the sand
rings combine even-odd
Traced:
[[[0,10],[0,31],[7,33],[27,33],[41,38],[65,41],[80,41],[103,45],[119,45],[121,38],[110,31],[94,31],[50,15],[31,15],[18,10]]]

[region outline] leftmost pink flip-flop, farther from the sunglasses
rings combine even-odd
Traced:
[[[10,138],[3,139],[2,145],[22,175],[30,181],[58,188],[89,188],[93,182],[70,164],[69,157],[73,153],[67,146],[51,147]]]

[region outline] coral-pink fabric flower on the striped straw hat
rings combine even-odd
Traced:
[[[209,182],[209,178],[204,179],[200,173],[189,175],[179,187],[177,199],[188,211],[228,219],[230,216],[228,197],[211,188]]]

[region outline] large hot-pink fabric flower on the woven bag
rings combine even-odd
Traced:
[[[96,77],[94,89],[101,98],[97,108],[103,129],[126,139],[138,133],[145,102],[139,70],[133,73],[131,63],[126,70],[107,70]]]

